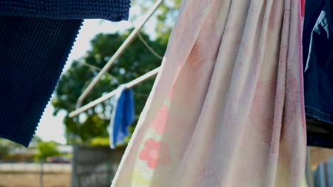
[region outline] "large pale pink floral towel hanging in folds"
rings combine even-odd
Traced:
[[[301,186],[301,47],[300,1],[184,1],[112,186]]]

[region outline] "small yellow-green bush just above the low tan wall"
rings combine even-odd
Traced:
[[[37,160],[46,160],[48,157],[60,155],[55,142],[39,142],[37,150],[38,153],[35,155],[35,159]]]

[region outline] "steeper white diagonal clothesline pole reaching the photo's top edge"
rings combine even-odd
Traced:
[[[134,30],[126,38],[125,42],[122,43],[122,45],[118,48],[118,50],[115,52],[115,54],[112,55],[111,59],[107,62],[107,64],[105,64],[105,67],[103,67],[102,70],[100,70],[100,72],[97,74],[97,76],[93,79],[93,81],[90,82],[90,84],[85,89],[85,91],[83,91],[83,93],[80,95],[80,97],[78,98],[78,101],[76,102],[76,106],[75,106],[76,109],[80,108],[80,106],[82,105],[85,98],[88,96],[88,94],[93,89],[93,87],[97,84],[97,81],[99,81],[100,78],[107,72],[107,70],[110,69],[110,67],[115,62],[115,60],[117,60],[117,58],[120,57],[120,55],[122,55],[122,52],[124,52],[126,50],[128,45],[135,38],[135,36],[137,36],[137,33],[139,33],[139,30],[142,28],[142,26],[144,26],[144,23],[146,23],[148,21],[148,19],[157,10],[159,5],[162,4],[162,2],[163,2],[163,0],[157,0],[156,3],[154,4],[154,6],[147,13],[147,16],[144,18],[144,21],[142,21],[142,23],[140,23],[138,27],[134,27]]]

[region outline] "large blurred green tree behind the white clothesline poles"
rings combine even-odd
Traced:
[[[129,32],[122,35],[115,33],[95,36],[91,41],[92,49],[81,59],[75,60],[71,64],[70,69],[63,74],[63,77],[58,82],[56,94],[52,101],[56,109],[55,114],[60,110],[70,113],[70,111],[75,109],[78,97],[98,73],[98,70],[88,67],[87,64],[102,69],[127,38],[128,34]],[[159,39],[150,40],[149,36],[144,33],[142,33],[142,37],[159,55],[164,55],[166,42]],[[130,47],[116,60],[107,74],[98,81],[83,104],[117,89],[120,84],[132,81],[142,74],[159,67],[160,63],[161,60],[152,55],[139,38],[134,39]],[[153,83],[154,79],[145,81],[133,89],[137,115],[141,113]],[[90,108],[85,113],[80,114],[79,117],[69,118],[66,116],[63,122],[66,126],[68,142],[90,144],[94,137],[108,137],[107,125],[110,123],[111,111],[112,102],[106,101],[95,108]]]

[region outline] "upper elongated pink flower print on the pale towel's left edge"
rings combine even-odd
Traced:
[[[169,109],[163,105],[157,115],[155,116],[154,120],[152,121],[152,125],[150,126],[157,134],[163,135],[166,125],[166,120],[168,117]]]

